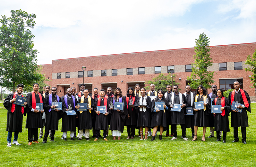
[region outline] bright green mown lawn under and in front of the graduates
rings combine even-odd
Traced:
[[[154,141],[150,141],[151,137],[140,140],[138,130],[134,140],[126,140],[125,129],[120,141],[112,140],[112,136],[107,137],[108,141],[102,138],[93,141],[91,131],[90,141],[84,137],[81,141],[69,138],[63,141],[60,120],[59,131],[55,133],[56,142],[48,138],[47,143],[42,144],[42,139],[39,139],[40,144],[29,146],[24,117],[23,132],[18,137],[21,145],[12,147],[7,147],[7,111],[0,108],[0,166],[256,166],[255,108],[256,103],[252,103],[252,114],[248,112],[247,144],[241,141],[241,128],[239,142],[231,143],[234,138],[233,128],[230,127],[227,143],[222,143],[216,142],[216,138],[201,141],[202,128],[199,128],[198,140],[194,142],[191,141],[191,130],[187,129],[189,141],[184,141],[180,126],[177,127],[177,140],[171,140],[171,137],[163,137],[161,141],[158,137]],[[207,128],[206,136],[209,135]]]

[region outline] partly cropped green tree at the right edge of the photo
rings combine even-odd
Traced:
[[[255,52],[252,55],[252,58],[250,55],[247,56],[247,59],[245,61],[246,65],[249,65],[249,67],[245,68],[245,71],[250,71],[252,72],[252,76],[250,77],[251,83],[252,83],[252,88],[255,88],[255,93],[256,93],[256,49]],[[255,94],[256,95],[256,94]]]

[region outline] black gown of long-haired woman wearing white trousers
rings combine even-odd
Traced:
[[[111,102],[114,101],[115,97],[112,97]],[[120,98],[120,97],[119,97]],[[116,102],[119,101],[119,99],[116,100]],[[124,96],[122,97],[122,102],[124,103],[124,110],[122,111],[117,111],[117,110],[109,110],[111,113],[111,119],[109,123],[109,129],[110,130],[118,130],[121,131],[122,133],[124,132],[124,120],[127,118],[127,102]],[[114,104],[114,102],[113,102]]]

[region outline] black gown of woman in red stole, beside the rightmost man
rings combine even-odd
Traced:
[[[225,115],[224,117],[221,114],[212,114],[214,116],[214,131],[223,131],[223,132],[229,132],[229,122],[228,122],[228,116],[229,112],[231,111],[231,106],[229,100],[225,98]],[[212,105],[215,105],[214,100],[212,101]],[[221,99],[217,99],[216,105],[221,105]]]

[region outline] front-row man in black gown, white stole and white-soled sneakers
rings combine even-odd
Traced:
[[[186,138],[186,125],[185,125],[185,113],[186,113],[186,106],[187,106],[187,99],[186,96],[179,92],[179,87],[177,85],[173,86],[174,93],[169,97],[169,102],[172,104],[181,104],[181,110],[173,111],[171,115],[171,125],[172,131],[174,133],[174,137],[171,140],[177,139],[177,125],[181,126],[182,131],[182,138],[185,141],[188,141]],[[173,108],[173,106],[170,106]]]

